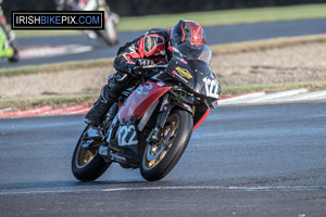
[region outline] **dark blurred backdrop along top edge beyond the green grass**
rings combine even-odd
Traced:
[[[260,7],[284,7],[322,2],[326,2],[326,0],[106,0],[106,3],[109,3],[111,9],[121,16]],[[51,0],[4,0],[3,9],[5,12],[14,10],[55,10],[55,3]],[[10,18],[9,13],[7,13],[7,16]]]

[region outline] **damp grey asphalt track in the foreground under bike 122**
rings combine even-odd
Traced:
[[[326,103],[222,106],[158,182],[71,173],[83,116],[1,119],[1,216],[325,216]]]

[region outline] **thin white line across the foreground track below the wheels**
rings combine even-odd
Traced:
[[[0,191],[0,195],[20,194],[57,194],[57,193],[87,193],[87,192],[122,192],[122,191],[159,191],[159,190],[233,190],[233,191],[313,191],[326,190],[323,186],[313,187],[218,187],[218,186],[190,186],[190,187],[139,187],[112,189],[76,189],[76,190],[32,190],[32,191]]]

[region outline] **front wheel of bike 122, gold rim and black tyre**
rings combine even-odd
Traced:
[[[165,177],[181,157],[191,137],[193,119],[189,112],[176,108],[161,131],[161,141],[147,144],[140,165],[141,176],[149,181]]]

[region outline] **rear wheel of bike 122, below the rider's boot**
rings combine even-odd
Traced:
[[[98,179],[111,165],[111,163],[105,163],[105,161],[99,155],[99,144],[101,141],[95,141],[95,148],[83,149],[83,144],[85,142],[89,142],[90,139],[87,139],[86,133],[87,130],[90,129],[90,125],[88,125],[74,151],[73,159],[72,159],[72,171],[76,179],[80,181],[92,181]]]

